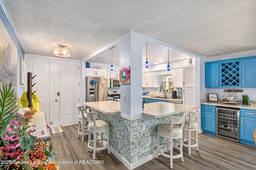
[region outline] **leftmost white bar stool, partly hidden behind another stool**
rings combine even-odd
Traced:
[[[88,135],[88,133],[84,133],[84,130],[88,129],[87,127],[85,127],[86,122],[88,121],[87,114],[84,113],[85,111],[84,106],[79,106],[79,104],[77,104],[76,107],[78,110],[78,138],[80,137],[80,135],[82,135],[82,142],[84,142],[84,135]],[[81,123],[82,123],[82,128],[81,128]]]

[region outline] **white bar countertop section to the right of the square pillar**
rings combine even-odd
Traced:
[[[176,113],[182,113],[184,111],[189,111],[197,109],[198,106],[168,103],[168,102],[155,102],[146,104],[146,112],[142,113],[148,117],[164,117],[174,115]]]

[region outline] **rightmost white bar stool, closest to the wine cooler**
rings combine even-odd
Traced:
[[[200,109],[197,111],[188,111],[188,119],[186,118],[183,131],[183,146],[188,147],[188,155],[191,156],[191,148],[196,147],[198,150],[198,117],[200,115]],[[185,137],[185,131],[188,131],[188,137]],[[191,131],[195,131],[195,138],[191,137]],[[188,139],[188,144],[184,143],[184,139]],[[194,141],[195,144],[191,145],[191,141]]]

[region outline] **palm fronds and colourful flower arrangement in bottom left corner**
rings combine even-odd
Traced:
[[[52,146],[46,145],[40,137],[33,136],[34,128],[28,130],[30,126],[26,126],[23,120],[27,117],[22,115],[21,121],[13,120],[19,113],[11,83],[9,88],[3,85],[0,92],[0,170],[58,170],[58,164],[54,161],[56,154],[50,153]],[[50,126],[47,125],[47,128]],[[42,130],[41,134],[46,130]]]

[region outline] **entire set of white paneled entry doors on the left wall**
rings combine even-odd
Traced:
[[[32,91],[38,96],[40,111],[45,111],[51,127],[77,124],[79,103],[79,61],[27,57],[27,72],[32,72]],[[58,93],[59,92],[59,93]]]

